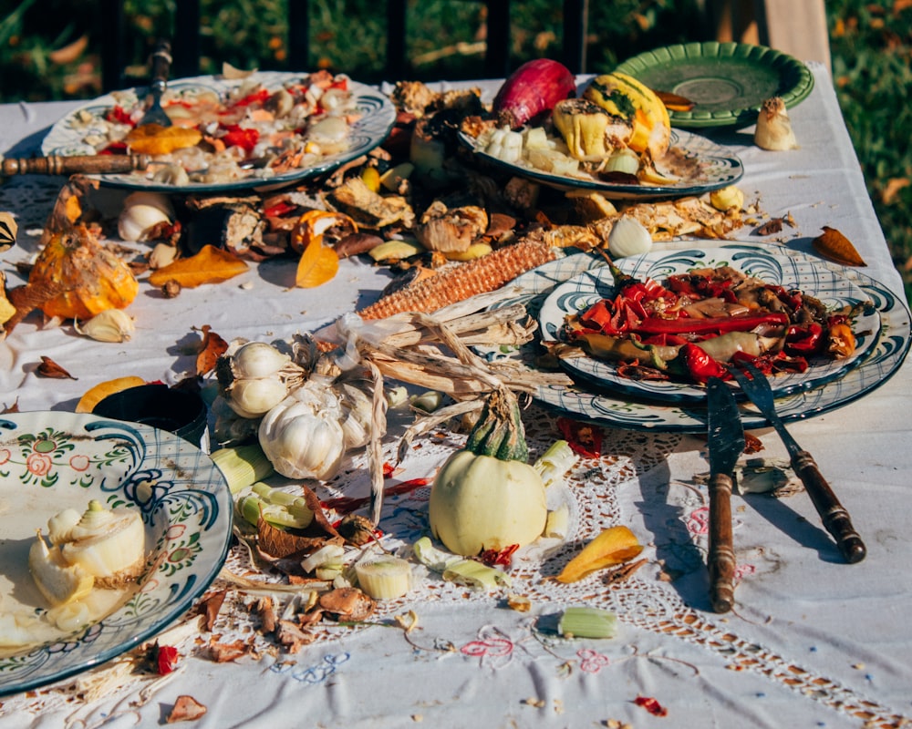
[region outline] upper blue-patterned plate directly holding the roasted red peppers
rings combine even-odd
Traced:
[[[668,276],[700,268],[731,266],[763,282],[778,284],[786,289],[799,289],[819,299],[828,309],[855,305],[867,296],[855,283],[840,272],[820,265],[819,259],[801,255],[782,255],[776,250],[743,246],[725,249],[694,248],[689,251],[650,252],[643,256],[624,258],[617,267],[637,279],[652,279],[664,283]],[[606,268],[587,271],[562,283],[545,299],[539,313],[544,339],[560,339],[565,317],[581,313],[592,304],[615,293],[614,278]],[[799,390],[809,390],[845,375],[865,359],[880,335],[880,315],[871,306],[852,323],[855,332],[855,353],[842,360],[818,357],[803,373],[776,375],[770,379],[777,397]],[[562,360],[566,370],[577,380],[617,393],[657,400],[662,403],[700,404],[706,399],[706,389],[699,385],[658,380],[632,380],[617,375],[615,364],[595,357],[575,357]],[[740,394],[740,392],[739,392]]]

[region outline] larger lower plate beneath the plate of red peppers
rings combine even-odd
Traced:
[[[693,244],[693,241],[665,243],[661,244],[660,248],[665,251],[687,250],[692,248]],[[730,246],[734,246],[736,249],[742,249],[745,246],[760,249],[770,248],[769,246],[723,241],[720,241],[718,245],[707,241],[706,246],[708,250],[713,251],[720,248],[722,251],[719,253],[720,256],[726,255],[724,251]],[[793,253],[804,256],[800,252],[788,252],[781,248],[776,250],[780,255]],[[910,331],[912,322],[910,322],[907,305],[886,286],[856,269],[836,266],[820,260],[817,261],[817,264],[833,268],[834,271],[854,282],[865,293],[865,297],[874,303],[880,314],[881,334],[867,359],[855,369],[847,372],[844,377],[822,387],[804,390],[777,400],[776,408],[786,422],[823,415],[838,407],[848,405],[883,385],[903,363],[909,344],[912,343],[912,331]],[[519,293],[512,300],[498,305],[525,303],[529,312],[536,315],[554,285],[565,282],[581,272],[603,265],[605,262],[600,257],[586,253],[578,253],[545,263],[544,266],[524,273],[515,279],[511,285],[519,287]],[[540,354],[540,350],[537,342],[534,342],[521,347],[518,351],[509,352],[503,347],[499,347],[483,351],[483,354],[489,358],[520,357],[526,364],[534,366],[534,359]],[[558,412],[585,417],[604,426],[623,427],[628,430],[706,432],[706,409],[700,406],[661,406],[617,393],[594,392],[582,387],[562,385],[539,387],[534,397],[544,406],[551,407]],[[759,428],[770,425],[766,418],[757,413],[750,404],[743,403],[740,408],[744,427]]]

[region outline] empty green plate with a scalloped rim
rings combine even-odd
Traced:
[[[782,97],[791,108],[814,88],[814,75],[798,59],[743,43],[665,46],[629,58],[617,70],[696,102],[690,111],[669,112],[673,127],[751,124],[765,99]]]

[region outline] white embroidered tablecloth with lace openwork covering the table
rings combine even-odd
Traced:
[[[776,238],[809,251],[821,226],[837,228],[864,256],[865,273],[902,299],[831,81],[824,67],[812,69],[814,92],[791,111],[801,149],[763,152],[751,145],[751,128],[713,137],[741,156],[740,187],[748,196],[759,195],[772,216],[792,213],[796,228]],[[0,108],[0,149],[30,153],[42,130],[72,106]],[[13,263],[35,253],[58,188],[59,180],[37,178],[0,187],[0,209],[15,211],[20,224],[19,246],[3,259],[10,285],[20,282]],[[108,190],[103,203],[115,209],[121,194]],[[770,240],[749,232],[741,237]],[[193,327],[209,324],[226,337],[290,337],[373,300],[386,283],[382,272],[350,260],[316,290],[293,288],[293,276],[287,264],[264,262],[233,282],[186,290],[173,300],[146,287],[130,308],[138,331],[128,344],[91,343],[68,325],[43,330],[30,317],[0,343],[0,404],[69,410],[89,386],[119,375],[172,383],[192,371],[192,354],[182,344],[195,339]],[[78,380],[37,378],[40,355],[66,364]],[[170,677],[112,681],[109,693],[92,694],[88,703],[67,688],[72,681],[4,697],[0,729],[158,724],[181,694],[207,707],[197,725],[220,729],[903,725],[912,720],[910,385],[907,364],[864,398],[790,426],[852,513],[867,543],[866,560],[847,566],[839,559],[798,489],[786,488],[780,498],[736,496],[739,582],[731,614],[713,614],[707,599],[705,440],[607,428],[604,455],[580,461],[557,497],[570,506],[573,539],[514,562],[510,590],[475,593],[421,574],[408,596],[381,603],[378,625],[327,626],[294,655],[256,633],[256,619],[241,604],[253,598],[235,594],[212,635],[251,641],[253,655],[212,662],[206,647],[212,635],[189,631],[172,636],[181,662]],[[554,440],[554,415],[538,406],[527,411],[534,452]],[[756,435],[762,456],[784,457],[772,431]],[[431,477],[459,440],[421,444],[400,479]],[[363,466],[356,457],[326,493],[366,493]],[[389,499],[381,527],[390,543],[408,543],[426,529],[427,498],[428,489],[419,488]],[[647,545],[646,566],[614,584],[597,574],[573,585],[549,580],[578,542],[612,524],[627,525]],[[228,566],[243,571],[245,560],[235,549]],[[511,610],[508,592],[528,597],[532,610]],[[617,637],[565,640],[545,630],[569,605],[616,611]],[[406,632],[394,619],[409,611],[418,627]],[[650,712],[659,706],[666,715]]]

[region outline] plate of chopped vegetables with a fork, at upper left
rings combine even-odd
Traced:
[[[261,71],[257,74],[264,87],[275,89],[289,81],[299,81],[302,74],[292,74],[279,71]],[[237,87],[241,81],[227,81],[221,77],[202,76],[183,78],[169,82],[168,88],[172,92],[189,93],[202,89],[211,89],[224,98],[229,91]],[[257,177],[256,175],[244,180],[233,180],[222,183],[191,183],[188,185],[171,185],[153,182],[146,179],[142,173],[100,175],[98,179],[105,184],[127,188],[130,190],[157,190],[161,192],[221,192],[225,190],[250,190],[261,188],[278,188],[298,180],[306,180],[316,175],[324,174],[336,169],[345,162],[360,157],[366,152],[378,147],[389,135],[389,130],[396,121],[396,109],[389,98],[381,94],[376,88],[348,81],[348,89],[354,94],[355,104],[361,112],[361,118],[351,125],[349,130],[350,145],[348,149],[339,154],[330,155],[319,159],[310,167],[293,169],[272,177]],[[145,89],[130,88],[118,91],[89,102],[60,119],[47,133],[41,144],[41,151],[45,155],[58,154],[64,156],[95,154],[96,150],[86,144],[91,125],[87,127],[84,119],[88,117],[100,118],[109,108],[119,104],[129,108],[136,103],[137,94],[144,93]],[[77,119],[82,119],[77,123]]]

